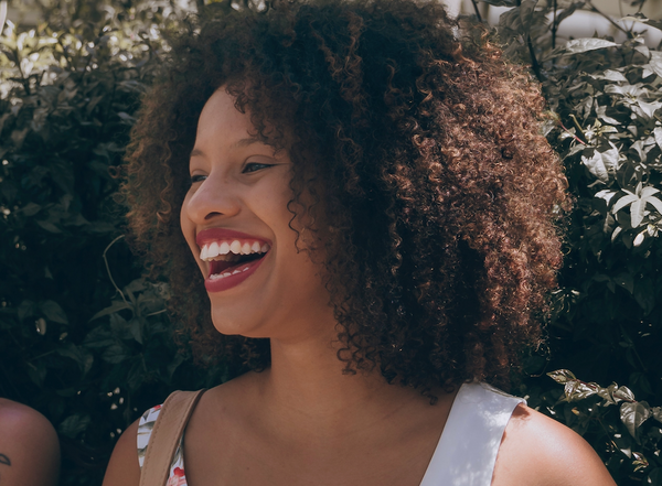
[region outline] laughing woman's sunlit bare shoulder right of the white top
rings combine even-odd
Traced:
[[[505,428],[492,486],[616,486],[592,447],[572,429],[520,404]]]

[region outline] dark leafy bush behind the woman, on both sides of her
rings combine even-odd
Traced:
[[[583,434],[619,485],[662,485],[662,53],[632,30],[621,44],[560,42],[558,23],[580,2],[491,3],[512,7],[496,34],[541,79],[576,197],[549,349],[532,353],[515,390]],[[178,353],[168,289],[143,277],[113,201],[168,48],[161,32],[185,12],[140,0],[46,10],[50,26],[0,39],[0,396],[56,425],[63,484],[100,484],[118,433],[145,409],[231,374]],[[587,381],[553,372],[562,390],[545,375],[556,368]]]

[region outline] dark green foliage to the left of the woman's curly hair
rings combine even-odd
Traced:
[[[56,426],[64,485],[99,484],[137,415],[221,378],[178,354],[166,290],[116,239],[113,169],[166,22],[162,8],[122,15],[0,40],[0,396]]]

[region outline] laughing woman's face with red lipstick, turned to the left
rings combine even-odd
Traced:
[[[197,123],[181,227],[221,333],[300,338],[332,318],[329,293],[295,246],[291,161],[252,132],[249,114],[218,89]]]

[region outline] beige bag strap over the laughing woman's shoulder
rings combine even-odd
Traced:
[[[140,473],[140,486],[164,486],[170,465],[189,418],[204,389],[173,391],[161,406],[147,445],[145,463]]]

